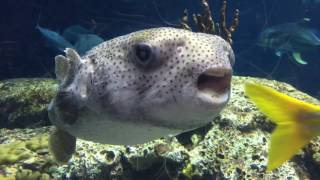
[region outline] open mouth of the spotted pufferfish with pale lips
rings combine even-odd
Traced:
[[[200,74],[197,87],[202,92],[222,95],[230,90],[231,76],[231,69],[209,69]]]

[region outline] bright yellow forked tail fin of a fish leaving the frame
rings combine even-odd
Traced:
[[[261,112],[277,124],[271,135],[267,171],[291,159],[319,134],[315,125],[320,125],[320,106],[257,84],[246,84],[245,92]]]

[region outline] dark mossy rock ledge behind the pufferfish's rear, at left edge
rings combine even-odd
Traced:
[[[57,88],[53,79],[0,81],[0,128],[49,125],[47,105]]]

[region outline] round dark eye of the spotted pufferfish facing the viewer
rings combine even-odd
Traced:
[[[153,59],[153,52],[151,45],[147,43],[138,43],[135,46],[135,55],[137,62],[142,66],[147,66]]]

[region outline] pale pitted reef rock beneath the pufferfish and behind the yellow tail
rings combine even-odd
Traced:
[[[207,126],[136,146],[78,139],[76,154],[65,165],[56,164],[49,154],[50,126],[2,128],[0,179],[319,179],[320,138],[280,168],[266,172],[267,147],[274,124],[245,97],[243,84],[248,81],[319,104],[285,83],[234,77],[228,106]],[[41,93],[48,97],[55,93],[55,83],[41,83],[46,84]],[[40,121],[37,117],[29,122]]]

